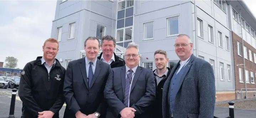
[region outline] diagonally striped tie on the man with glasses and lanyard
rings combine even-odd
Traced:
[[[124,104],[126,107],[128,107],[128,101],[129,101],[129,90],[130,90],[130,81],[132,79],[132,69],[129,70],[130,73],[128,73],[126,79],[125,79],[125,99]]]

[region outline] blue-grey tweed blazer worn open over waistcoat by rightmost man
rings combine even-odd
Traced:
[[[168,90],[172,76],[179,66],[173,67],[163,86],[163,118],[213,118],[215,107],[215,77],[212,66],[205,60],[191,55],[175,98],[174,109],[169,108]]]

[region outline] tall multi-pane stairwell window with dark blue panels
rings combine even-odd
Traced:
[[[118,1],[116,22],[116,44],[127,47],[132,42],[134,0]],[[126,42],[127,41],[127,42]]]

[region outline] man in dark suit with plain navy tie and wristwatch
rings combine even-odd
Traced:
[[[105,118],[104,88],[109,64],[97,59],[100,42],[88,37],[84,42],[86,56],[70,61],[64,79],[66,109],[63,118]]]

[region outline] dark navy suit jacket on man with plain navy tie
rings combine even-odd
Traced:
[[[100,118],[105,118],[107,104],[103,92],[111,72],[110,65],[98,59],[89,89],[85,58],[70,61],[63,87],[67,104],[63,118],[75,118],[77,111],[86,115],[99,112]]]

